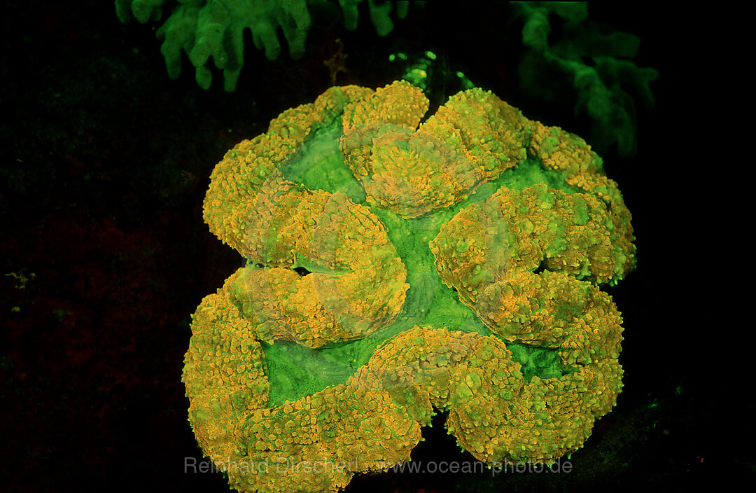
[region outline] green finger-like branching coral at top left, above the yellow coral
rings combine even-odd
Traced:
[[[168,75],[177,79],[181,72],[181,52],[191,60],[196,70],[197,84],[210,87],[212,70],[210,59],[223,71],[226,91],[234,91],[244,61],[243,33],[249,29],[255,46],[265,50],[268,60],[276,59],[281,51],[277,38],[280,29],[289,44],[293,58],[305,52],[305,39],[310,28],[308,8],[326,0],[116,0],[116,14],[122,23],[132,15],[140,23],[157,21],[167,16],[157,29],[163,41],[160,52],[166,58]],[[360,0],[339,0],[346,29],[355,29]],[[391,14],[404,18],[408,0],[377,2],[368,0],[370,20],[380,36],[393,29]]]

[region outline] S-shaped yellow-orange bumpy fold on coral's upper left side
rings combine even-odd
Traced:
[[[373,212],[344,194],[293,184],[279,169],[345,105],[370,92],[331,88],[314,104],[284,111],[212,172],[206,222],[264,266],[240,269],[231,288],[244,315],[261,321],[260,340],[318,347],[358,339],[401,311],[406,271]],[[318,271],[300,278],[292,269],[302,262]]]

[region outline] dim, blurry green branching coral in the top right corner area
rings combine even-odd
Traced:
[[[522,42],[529,51],[519,66],[526,93],[547,101],[563,89],[556,81],[566,80],[577,94],[575,113],[590,117],[590,142],[603,152],[616,143],[618,154],[636,152],[635,99],[653,107],[649,83],[658,72],[637,67],[631,60],[640,38],[587,20],[587,2],[512,2],[522,16]],[[561,23],[561,34],[549,39],[550,18]],[[552,83],[533,84],[534,80]]]

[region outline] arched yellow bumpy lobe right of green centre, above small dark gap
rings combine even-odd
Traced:
[[[617,231],[611,219],[612,212],[590,194],[567,194],[544,183],[523,191],[500,188],[457,212],[430,247],[445,284],[474,304],[483,287],[541,262],[600,283],[622,278],[633,266],[634,247],[627,225]]]

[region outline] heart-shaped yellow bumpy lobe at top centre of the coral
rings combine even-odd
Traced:
[[[420,89],[400,81],[342,118],[344,160],[368,202],[404,218],[459,203],[525,159],[528,119],[491,92],[460,92],[420,124],[427,110]]]

